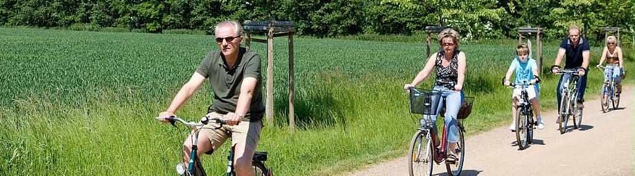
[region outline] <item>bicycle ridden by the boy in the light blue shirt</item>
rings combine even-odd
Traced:
[[[505,77],[503,77],[503,86],[505,86]],[[536,83],[540,83],[538,79]],[[532,108],[531,101],[529,101],[529,95],[527,87],[530,84],[527,81],[523,81],[521,84],[511,83],[513,88],[521,88],[521,98],[518,99],[516,105],[516,142],[521,150],[529,147],[529,144],[533,142],[534,126],[538,126],[537,121],[534,121],[534,110]]]

